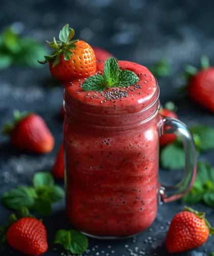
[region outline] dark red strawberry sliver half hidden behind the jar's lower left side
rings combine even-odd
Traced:
[[[55,178],[64,180],[64,147],[61,144],[59,151],[57,153],[55,164],[52,167],[52,175]]]

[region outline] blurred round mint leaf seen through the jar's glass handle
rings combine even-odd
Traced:
[[[181,169],[185,166],[184,150],[176,144],[164,147],[160,154],[161,166],[165,169]]]

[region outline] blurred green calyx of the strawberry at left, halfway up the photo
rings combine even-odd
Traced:
[[[4,126],[3,126],[3,134],[10,134],[16,127],[16,125],[23,120],[24,118],[30,116],[32,113],[31,112],[19,112],[18,110],[14,110],[13,111],[13,116],[14,119],[13,121],[9,121],[7,122]]]

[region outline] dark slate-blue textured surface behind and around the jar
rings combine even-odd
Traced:
[[[159,80],[162,103],[168,99],[174,100],[179,107],[180,119],[188,124],[200,121],[214,125],[211,114],[191,104],[182,93],[177,93],[177,87],[182,82],[178,79],[179,72],[185,63],[198,65],[199,57],[204,54],[214,61],[213,1],[2,0],[0,5],[1,29],[14,23],[20,32],[41,42],[50,40],[65,23],[69,23],[75,29],[76,38],[86,40],[91,45],[104,47],[118,59],[147,66],[163,56],[168,57],[172,76]],[[14,109],[35,111],[45,119],[56,138],[53,152],[47,156],[35,156],[13,150],[7,138],[0,137],[0,194],[20,184],[31,184],[36,171],[50,170],[53,163],[62,140],[62,122],[56,118],[62,104],[62,88],[47,87],[44,81],[48,76],[47,66],[40,70],[13,67],[0,73],[1,126],[11,118]],[[214,165],[213,152],[203,155],[201,159]],[[180,172],[162,171],[161,180],[172,184],[180,175]],[[109,253],[128,256],[130,252],[127,249],[135,251],[136,247],[139,247],[139,252],[142,251],[142,254],[138,252],[137,255],[143,255],[144,252],[148,255],[168,255],[164,245],[167,222],[182,208],[180,202],[160,206],[152,229],[136,239],[126,241],[90,240],[91,251],[83,255]],[[197,208],[206,211],[208,219],[214,223],[212,209],[204,206]],[[0,207],[0,213],[0,224],[3,224],[10,211]],[[44,255],[62,255],[63,249],[54,250],[56,246],[52,241],[59,228],[69,228],[65,219],[64,204],[56,204],[52,216],[43,220],[47,226],[49,241],[48,252]],[[145,239],[148,240],[147,243]],[[214,250],[213,242],[213,238],[209,238],[204,246],[178,255],[208,255]],[[0,251],[1,256],[8,256],[10,253],[21,255],[11,249]]]

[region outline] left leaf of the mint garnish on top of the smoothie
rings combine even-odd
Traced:
[[[102,75],[92,75],[83,83],[85,91],[103,91],[105,89]]]

